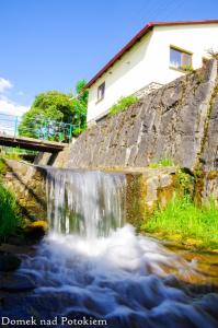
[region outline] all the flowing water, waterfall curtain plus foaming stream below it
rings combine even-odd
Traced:
[[[50,233],[24,258],[37,288],[14,316],[25,304],[23,316],[56,327],[218,327],[218,294],[197,289],[197,262],[125,223],[125,189],[122,174],[48,169]]]

